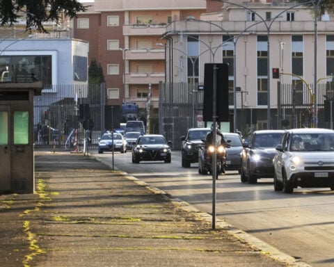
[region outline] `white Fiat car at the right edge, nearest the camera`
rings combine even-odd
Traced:
[[[273,159],[275,191],[292,193],[300,187],[334,190],[334,131],[290,129],[276,146]]]

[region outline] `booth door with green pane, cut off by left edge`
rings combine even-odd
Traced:
[[[0,105],[0,191],[10,191],[10,106]]]

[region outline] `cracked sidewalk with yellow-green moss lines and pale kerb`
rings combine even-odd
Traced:
[[[35,184],[0,195],[1,267],[308,266],[93,156],[37,151]]]

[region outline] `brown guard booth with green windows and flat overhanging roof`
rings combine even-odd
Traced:
[[[0,192],[33,193],[33,96],[42,83],[0,83]]]

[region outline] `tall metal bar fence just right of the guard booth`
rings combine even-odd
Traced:
[[[35,147],[90,147],[104,131],[105,88],[102,85],[47,86],[34,97]]]

